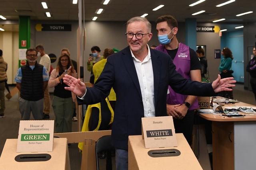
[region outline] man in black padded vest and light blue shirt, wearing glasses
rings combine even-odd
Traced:
[[[44,90],[48,85],[49,73],[44,66],[36,62],[36,49],[26,51],[26,65],[18,69],[14,81],[20,90],[20,113],[22,120],[30,119],[30,112],[35,120],[43,118]]]

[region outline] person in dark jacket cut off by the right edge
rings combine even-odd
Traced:
[[[246,71],[250,73],[250,84],[252,86],[252,92],[254,93],[254,97],[256,100],[256,49],[253,48],[252,51],[254,57],[249,61],[246,66]]]

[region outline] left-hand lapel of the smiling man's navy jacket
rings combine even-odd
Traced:
[[[141,96],[141,91],[140,91],[140,83],[138,80],[136,68],[132,59],[132,54],[130,51],[130,47],[126,47],[124,51],[122,51],[122,59],[124,61],[124,65],[126,67],[127,72],[130,74],[130,77],[134,83],[134,86],[136,87],[138,93],[140,94],[140,98],[142,99]]]

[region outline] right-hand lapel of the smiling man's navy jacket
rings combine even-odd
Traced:
[[[161,61],[159,59],[159,55],[154,53],[154,50],[150,49],[151,54],[151,61],[152,61],[152,67],[153,67],[153,74],[154,74],[154,98],[155,98],[155,105],[157,101],[157,94],[158,94],[158,87],[160,83],[160,68],[161,68]]]

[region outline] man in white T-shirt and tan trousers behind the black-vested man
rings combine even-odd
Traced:
[[[39,64],[43,65],[48,72],[50,72],[51,68],[51,60],[50,57],[44,52],[44,46],[42,44],[39,44],[36,46],[37,56],[41,57]],[[49,113],[50,113],[50,94],[49,94],[49,88],[47,87],[44,91],[44,112],[43,112],[43,119],[49,119]]]

